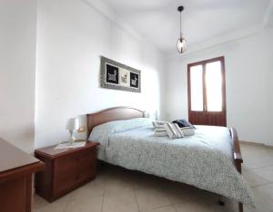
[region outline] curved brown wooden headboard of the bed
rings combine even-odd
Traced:
[[[89,137],[93,128],[112,120],[129,120],[134,118],[144,118],[145,111],[140,111],[130,107],[109,108],[104,111],[86,114],[87,116],[87,136]]]

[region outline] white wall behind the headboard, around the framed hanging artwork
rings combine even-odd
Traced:
[[[142,92],[100,88],[100,55],[140,69]],[[66,120],[89,112],[127,105],[162,115],[162,59],[141,36],[92,4],[38,1],[35,148],[66,140]]]

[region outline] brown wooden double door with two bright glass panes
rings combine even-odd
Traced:
[[[187,84],[189,120],[226,126],[224,57],[188,64]]]

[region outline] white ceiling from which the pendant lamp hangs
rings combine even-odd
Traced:
[[[271,0],[104,0],[116,14],[164,53],[174,53],[182,33],[188,46],[262,26]],[[272,5],[272,4],[271,4]],[[272,7],[272,6],[271,6]],[[266,15],[267,14],[267,15]],[[249,31],[250,32],[250,31]]]

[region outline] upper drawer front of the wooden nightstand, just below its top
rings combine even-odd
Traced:
[[[54,164],[54,176],[59,176],[74,170],[85,169],[94,164],[94,161],[96,161],[96,149],[88,149],[72,156],[56,159]]]

